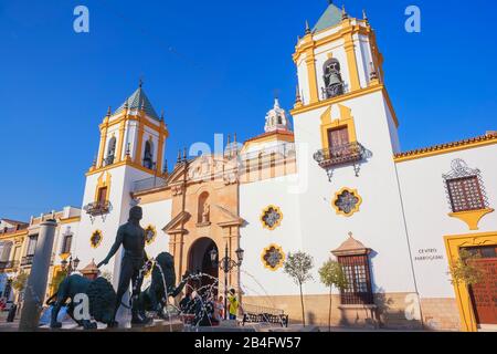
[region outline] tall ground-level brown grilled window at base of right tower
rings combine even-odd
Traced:
[[[338,262],[347,278],[347,287],[340,294],[341,304],[373,304],[368,256],[342,256],[338,257]]]

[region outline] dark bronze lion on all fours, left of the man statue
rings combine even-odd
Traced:
[[[46,301],[47,305],[53,305],[52,317],[50,322],[51,329],[62,327],[62,323],[57,322],[57,315],[62,305],[71,299],[67,305],[67,314],[85,330],[95,330],[96,323],[89,319],[78,320],[73,315],[74,298],[76,294],[86,294],[88,296],[89,315],[97,322],[106,323],[108,327],[117,326],[114,321],[116,308],[116,292],[113,285],[104,278],[88,280],[78,274],[67,277],[59,285],[57,292]]]

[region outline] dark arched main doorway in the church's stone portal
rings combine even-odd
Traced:
[[[190,282],[190,287],[188,287],[189,290],[187,291],[210,285],[219,278],[219,268],[212,264],[211,261],[211,251],[213,249],[218,251],[215,242],[208,237],[198,239],[190,247],[188,252],[188,271],[190,273],[202,273],[207,275],[201,277],[197,282]],[[215,292],[218,292],[216,289]]]

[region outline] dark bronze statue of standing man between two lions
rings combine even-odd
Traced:
[[[145,252],[145,230],[140,226],[142,218],[142,210],[136,206],[129,210],[128,222],[120,226],[117,230],[116,241],[114,242],[107,257],[98,263],[98,268],[103,264],[107,264],[108,261],[116,254],[120,246],[124,248],[124,257],[120,266],[119,285],[117,288],[117,301],[116,309],[114,311],[114,319],[119,310],[124,294],[129,289],[129,282],[133,284],[133,309],[131,309],[131,323],[133,324],[147,324],[151,320],[140,316],[139,309],[137,309],[135,301],[138,299],[141,292],[141,283],[144,281],[145,272],[144,266],[148,261],[147,253]]]

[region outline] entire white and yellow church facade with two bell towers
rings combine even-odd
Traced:
[[[200,271],[220,278],[222,291],[224,274],[211,251],[224,257],[226,249],[236,259],[243,249],[229,287],[246,306],[300,321],[298,287],[283,267],[289,253],[304,251],[315,264],[304,285],[310,323],[328,323],[329,289],[318,269],[334,258],[348,280],[334,291],[334,324],[495,329],[497,134],[402,152],[366,15],[329,4],[298,39],[293,60],[298,86],[290,114],[275,100],[261,135],[242,143],[233,136],[219,152],[191,159],[180,152],[170,171],[169,131],[141,85],[109,111],[64,257],[83,266],[103,260],[139,205],[147,253],[170,252],[178,280]],[[480,283],[451,281],[462,250],[480,254]],[[105,268],[115,283],[118,259]]]

